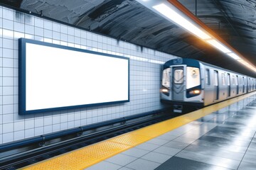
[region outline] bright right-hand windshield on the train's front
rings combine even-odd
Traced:
[[[186,89],[199,86],[201,84],[199,69],[196,67],[187,67],[186,69]]]

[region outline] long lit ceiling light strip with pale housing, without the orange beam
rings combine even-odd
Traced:
[[[230,50],[230,47],[225,45],[222,41],[219,41],[218,38],[215,38],[213,35],[210,35],[207,30],[201,26],[201,24],[196,23],[193,18],[190,18],[186,12],[183,12],[181,8],[176,5],[172,5],[166,0],[137,0],[139,3],[143,4],[152,11],[159,13],[159,15],[164,16],[169,21],[176,23],[176,25],[181,26],[182,28],[188,30],[188,32],[196,35],[198,38],[208,42],[213,47],[217,48],[221,52],[224,52],[226,55],[229,55],[234,60],[237,60],[241,64],[249,67],[252,70],[256,70],[255,66],[242,60],[240,55],[238,55],[233,50]],[[232,48],[231,48],[232,49]]]

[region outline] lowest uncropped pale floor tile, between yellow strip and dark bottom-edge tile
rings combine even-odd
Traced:
[[[125,166],[131,162],[133,162],[137,157],[131,157],[125,154],[117,154],[114,157],[111,157],[109,159],[106,159],[106,162],[111,162],[113,164],[118,164],[121,166]]]

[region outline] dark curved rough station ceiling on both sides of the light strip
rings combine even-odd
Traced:
[[[255,0],[178,1],[256,66]],[[117,40],[256,77],[255,72],[135,0],[2,0],[1,3]]]

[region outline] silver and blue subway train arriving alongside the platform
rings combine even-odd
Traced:
[[[255,78],[193,59],[169,60],[162,72],[161,101],[178,113],[183,106],[201,108],[255,90]]]

